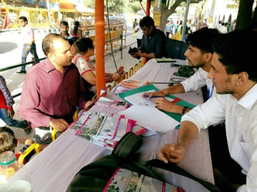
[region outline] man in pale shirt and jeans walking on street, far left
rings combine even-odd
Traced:
[[[23,39],[22,63],[26,62],[29,53],[33,55],[32,60],[34,60],[34,57],[36,60],[38,60],[39,57],[38,54],[36,54],[34,30],[28,25],[27,17],[21,16],[19,19],[22,26],[21,33]],[[26,66],[22,66],[21,70],[17,71],[16,73],[26,73],[25,68]]]

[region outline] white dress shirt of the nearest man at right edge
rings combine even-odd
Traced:
[[[223,119],[230,156],[247,175],[246,185],[237,191],[257,191],[257,84],[240,100],[231,94],[212,96],[182,116],[181,122],[191,121],[200,131]]]

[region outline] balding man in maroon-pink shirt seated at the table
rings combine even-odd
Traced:
[[[48,34],[42,49],[47,58],[25,75],[18,112],[34,129],[34,141],[47,144],[51,141],[51,129],[64,132],[76,106],[85,109],[90,101],[85,100],[77,67],[71,65],[68,40],[59,34]]]

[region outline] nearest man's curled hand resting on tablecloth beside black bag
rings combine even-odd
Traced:
[[[183,157],[185,156],[186,148],[179,143],[172,143],[172,144],[164,144],[161,148],[159,148],[157,155],[160,160],[164,161],[165,163],[173,162],[178,163],[180,162]]]

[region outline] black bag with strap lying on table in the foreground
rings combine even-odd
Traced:
[[[207,189],[206,191],[219,191],[212,183],[192,176],[186,172],[186,170],[178,167],[175,163],[169,162],[166,164],[157,159],[146,162],[146,165],[136,162],[139,156],[135,152],[139,150],[141,145],[141,137],[132,132],[125,134],[115,146],[112,155],[104,156],[97,161],[84,166],[75,175],[74,179],[72,179],[66,191],[103,191],[107,182],[112,178],[119,167],[161,180],[150,166],[166,169],[178,175],[193,179],[203,185]]]

